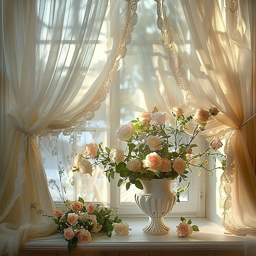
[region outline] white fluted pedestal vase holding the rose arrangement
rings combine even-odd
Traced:
[[[168,234],[171,228],[164,223],[164,216],[170,213],[176,202],[174,180],[168,178],[140,181],[144,189],[135,194],[135,200],[149,218],[148,225],[142,230],[150,235]]]

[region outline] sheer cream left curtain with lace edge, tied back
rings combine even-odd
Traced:
[[[36,136],[69,134],[93,117],[121,66],[136,17],[128,9],[129,25],[122,29],[123,15],[100,48],[108,0],[1,4],[11,126],[0,186],[0,254],[15,255],[26,238],[56,229],[49,218],[30,211],[31,202],[47,213],[54,207]],[[112,11],[124,11],[126,5],[116,1]]]

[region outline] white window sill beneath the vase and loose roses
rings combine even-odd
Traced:
[[[176,226],[180,218],[165,218],[165,223],[171,227],[167,235],[153,236],[145,234],[142,228],[146,226],[147,218],[122,219],[132,229],[128,236],[116,235],[108,238],[105,233],[92,234],[89,243],[78,243],[78,250],[244,250],[245,237],[223,234],[222,228],[206,218],[192,218],[192,225],[197,225],[200,232],[193,232],[186,238],[177,237]],[[60,234],[58,234],[59,236]],[[66,250],[64,238],[50,235],[37,240],[28,240],[25,250]]]

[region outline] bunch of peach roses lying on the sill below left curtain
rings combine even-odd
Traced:
[[[92,240],[92,233],[105,232],[111,237],[112,231],[118,235],[128,235],[129,228],[127,223],[112,214],[117,212],[116,208],[107,209],[99,208],[99,204],[84,204],[83,198],[79,200],[64,202],[65,211],[55,209],[52,216],[47,215],[43,209],[40,209],[37,202],[30,205],[32,211],[42,216],[51,217],[58,225],[57,231],[63,234],[68,242],[67,248],[69,253],[76,249],[76,243],[88,243]]]

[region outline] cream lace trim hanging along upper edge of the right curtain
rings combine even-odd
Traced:
[[[166,47],[173,77],[177,85],[182,90],[185,101],[185,106],[182,108],[185,110],[185,107],[195,99],[195,94],[191,90],[189,81],[186,79],[184,68],[181,66],[183,61],[178,55],[179,49],[173,39],[174,36],[170,28],[170,21],[166,17],[166,6],[164,5],[164,0],[155,1],[157,2],[157,27],[161,31],[160,39]],[[189,111],[189,108],[187,108],[186,111]]]

